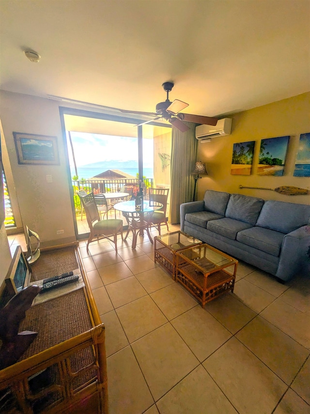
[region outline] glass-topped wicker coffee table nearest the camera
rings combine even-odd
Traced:
[[[238,261],[207,244],[176,252],[176,281],[183,284],[204,305],[232,291]],[[229,273],[226,268],[233,267]]]

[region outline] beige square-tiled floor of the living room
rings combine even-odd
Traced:
[[[202,309],[148,237],[130,243],[88,254],[80,242],[106,325],[110,414],[310,413],[309,280],[283,285],[241,262],[234,293]]]

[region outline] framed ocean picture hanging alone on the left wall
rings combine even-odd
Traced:
[[[57,136],[13,132],[18,164],[59,165]]]

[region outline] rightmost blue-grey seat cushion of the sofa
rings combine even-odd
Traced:
[[[278,257],[284,236],[284,233],[255,226],[239,232],[237,234],[237,240],[238,242]]]

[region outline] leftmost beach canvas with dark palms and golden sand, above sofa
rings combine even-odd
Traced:
[[[255,141],[239,142],[233,144],[233,158],[231,174],[250,175]]]

